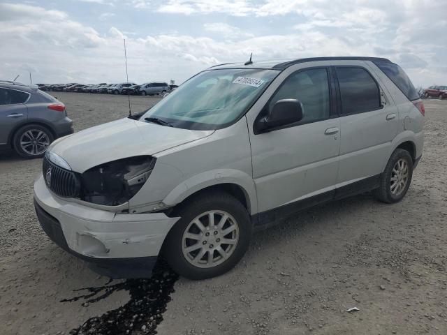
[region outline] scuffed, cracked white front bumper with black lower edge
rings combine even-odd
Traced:
[[[163,213],[118,214],[59,198],[43,176],[34,184],[43,230],[57,245],[111,278],[150,276],[163,241],[179,218]]]

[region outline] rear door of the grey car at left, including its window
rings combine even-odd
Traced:
[[[28,117],[27,92],[0,88],[0,144],[6,144],[13,128]]]

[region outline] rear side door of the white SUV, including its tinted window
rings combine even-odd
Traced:
[[[341,126],[337,188],[350,184],[368,188],[377,182],[388,159],[399,115],[379,77],[364,61],[335,64]]]

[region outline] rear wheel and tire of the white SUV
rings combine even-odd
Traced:
[[[401,170],[402,165],[406,165],[406,169],[402,168]],[[408,191],[412,177],[413,159],[409,152],[404,149],[395,149],[382,173],[380,186],[373,191],[373,194],[381,202],[388,204],[400,202]],[[402,183],[404,184],[402,185]]]

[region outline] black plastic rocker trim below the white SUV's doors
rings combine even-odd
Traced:
[[[328,192],[324,192],[318,195],[314,195],[291,204],[285,204],[281,207],[270,209],[268,211],[263,211],[258,214],[251,216],[251,221],[253,223],[255,230],[263,230],[269,228],[272,225],[280,223],[288,216],[297,214],[300,211],[309,209],[318,204],[323,204],[325,202],[330,202],[332,200],[339,200],[342,198],[350,197],[351,195],[356,195],[366,191],[371,191],[374,188],[379,187],[381,179],[381,174],[376,174],[372,177],[367,177],[360,181],[336,188]]]

